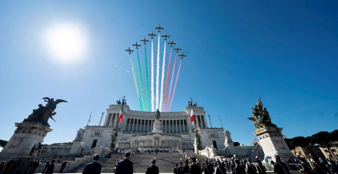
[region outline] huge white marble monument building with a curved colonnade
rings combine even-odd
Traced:
[[[117,125],[121,105],[113,104],[107,109],[102,126],[80,128],[70,154],[78,154],[83,149],[94,148],[96,144],[109,146],[112,133]],[[130,110],[123,105],[123,121],[118,124],[118,148],[170,148],[194,149],[195,125],[190,122],[191,107],[182,112],[162,112],[159,121],[162,131],[153,133],[155,112]],[[194,107],[201,145],[224,149],[224,129],[208,127],[203,107]]]

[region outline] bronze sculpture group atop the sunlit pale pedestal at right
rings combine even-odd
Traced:
[[[263,125],[265,124],[274,125],[271,123],[271,118],[269,112],[266,111],[266,107],[263,108],[263,103],[261,99],[259,99],[255,107],[252,108],[252,117],[248,117],[248,119],[254,121],[256,128],[263,127]]]

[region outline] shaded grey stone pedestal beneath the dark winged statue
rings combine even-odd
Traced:
[[[28,156],[32,147],[42,143],[53,129],[39,122],[15,123],[17,127],[13,136],[0,153],[0,160],[9,160],[19,156]]]

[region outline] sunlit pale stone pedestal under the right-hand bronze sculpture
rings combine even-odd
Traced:
[[[282,130],[283,128],[274,125],[263,125],[261,128],[256,128],[254,135],[257,135],[264,151],[264,162],[273,160],[276,154],[281,157],[282,162],[286,162],[286,158],[294,158],[284,140]]]

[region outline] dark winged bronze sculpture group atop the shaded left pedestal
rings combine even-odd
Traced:
[[[43,99],[47,102],[46,106],[39,104],[39,107],[36,110],[33,110],[33,113],[29,115],[28,118],[24,119],[24,122],[40,122],[44,125],[49,125],[48,119],[53,119],[53,116],[56,114],[54,112],[56,105],[60,102],[67,102],[66,100],[62,99],[57,99],[54,101],[53,98],[50,99],[48,97]]]

